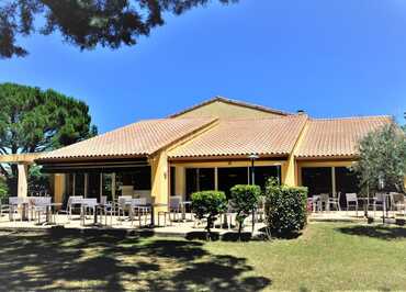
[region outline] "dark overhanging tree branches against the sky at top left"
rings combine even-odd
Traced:
[[[238,0],[218,0],[221,3]],[[180,15],[211,0],[5,0],[0,3],[0,57],[25,56],[18,36],[38,31],[59,32],[64,41],[81,49],[97,45],[132,46],[139,36],[162,25],[163,14]],[[44,19],[45,24],[36,19]]]

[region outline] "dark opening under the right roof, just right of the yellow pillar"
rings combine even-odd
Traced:
[[[308,196],[320,193],[332,193],[330,167],[302,168],[302,184],[308,188]]]

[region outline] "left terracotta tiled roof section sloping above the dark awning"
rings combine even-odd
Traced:
[[[47,153],[37,160],[147,156],[214,121],[214,119],[142,121]]]

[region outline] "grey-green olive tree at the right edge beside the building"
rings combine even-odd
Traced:
[[[385,191],[402,191],[406,176],[406,135],[391,124],[371,132],[359,143],[360,159],[353,166],[363,193],[380,189],[380,177]]]

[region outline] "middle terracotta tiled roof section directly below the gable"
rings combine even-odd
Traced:
[[[306,115],[259,120],[221,120],[218,125],[169,153],[171,158],[287,155]]]

